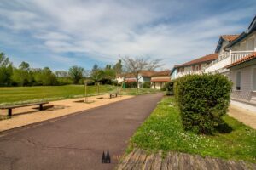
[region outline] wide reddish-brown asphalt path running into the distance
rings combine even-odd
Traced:
[[[141,95],[0,133],[0,169],[113,169],[161,97]],[[101,163],[103,150],[111,164]]]

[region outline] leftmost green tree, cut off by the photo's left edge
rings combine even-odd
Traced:
[[[9,86],[13,74],[13,65],[4,53],[0,53],[0,86]]]

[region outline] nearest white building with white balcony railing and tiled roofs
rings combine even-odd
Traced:
[[[207,65],[207,73],[219,72],[233,82],[231,103],[256,111],[256,16],[247,31],[220,37],[218,59]]]

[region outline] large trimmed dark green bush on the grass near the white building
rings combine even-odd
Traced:
[[[176,80],[175,98],[183,128],[212,134],[222,124],[230,104],[232,82],[223,75],[188,75]]]

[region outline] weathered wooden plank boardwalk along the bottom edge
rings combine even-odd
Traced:
[[[225,161],[218,158],[192,156],[189,154],[169,152],[165,159],[162,159],[161,153],[147,155],[143,150],[134,150],[120,161],[118,170],[256,170],[256,164],[245,161]]]

